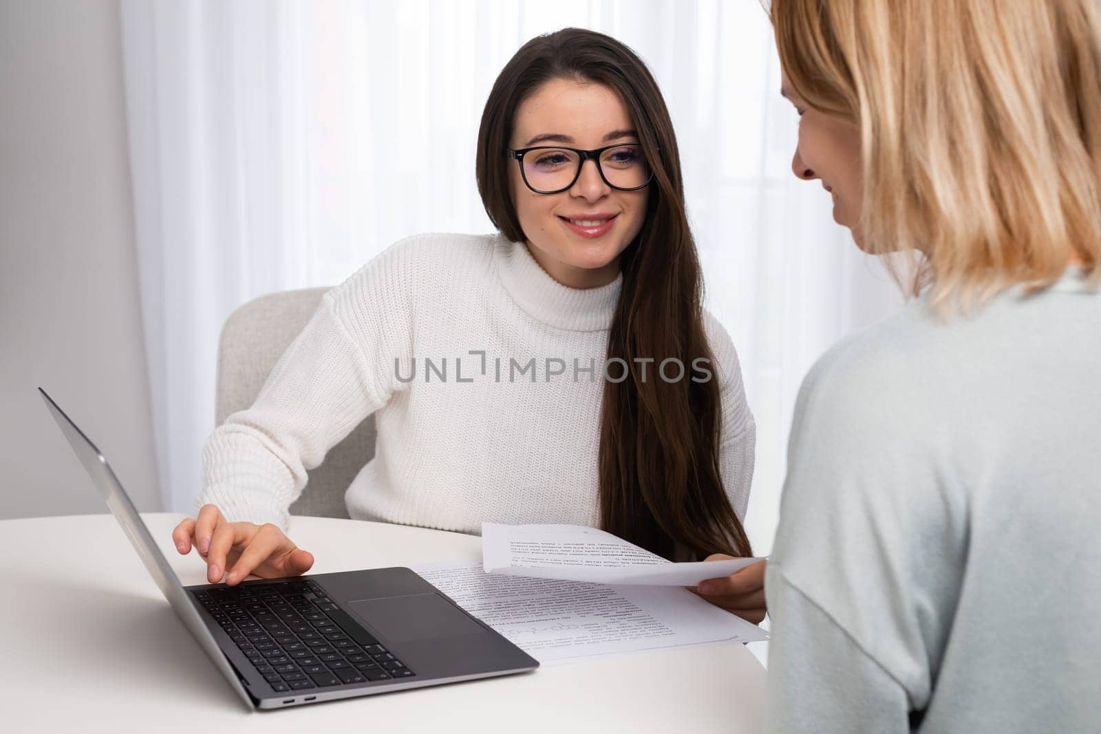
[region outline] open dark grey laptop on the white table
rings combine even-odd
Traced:
[[[538,667],[407,568],[183,585],[107,459],[39,392],[176,616],[250,706],[280,709]]]

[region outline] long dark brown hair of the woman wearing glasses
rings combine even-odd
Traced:
[[[643,381],[634,358],[715,366],[702,320],[704,282],[688,228],[676,135],[646,65],[601,33],[564,29],[520,48],[498,76],[478,132],[478,190],[490,220],[525,241],[505,157],[516,108],[552,79],[604,85],[626,106],[654,172],[646,216],[621,255],[623,285],[608,335],[608,359],[630,365],[604,382],[600,428],[600,524],[665,558],[679,544],[702,558],[751,556],[719,472],[721,402],[716,380]],[[717,372],[712,370],[712,372]]]

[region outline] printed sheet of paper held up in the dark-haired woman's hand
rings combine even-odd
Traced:
[[[673,563],[591,527],[482,523],[482,563],[487,573],[620,585],[695,587],[761,560]]]

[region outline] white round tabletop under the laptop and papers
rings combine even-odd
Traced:
[[[185,585],[183,515],[143,518]],[[295,517],[310,572],[477,561],[480,538]],[[0,694],[8,732],[759,732],[764,669],[743,645],[656,650],[531,673],[249,712],[110,515],[0,521]],[[262,727],[262,728],[261,728]]]

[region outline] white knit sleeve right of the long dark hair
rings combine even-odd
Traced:
[[[722,406],[722,429],[719,442],[719,471],[730,504],[738,518],[745,519],[753,482],[756,424],[745,399],[742,369],[730,335],[711,314],[704,313],[704,325],[717,364],[711,365],[719,380]],[[717,368],[717,369],[715,369]]]

